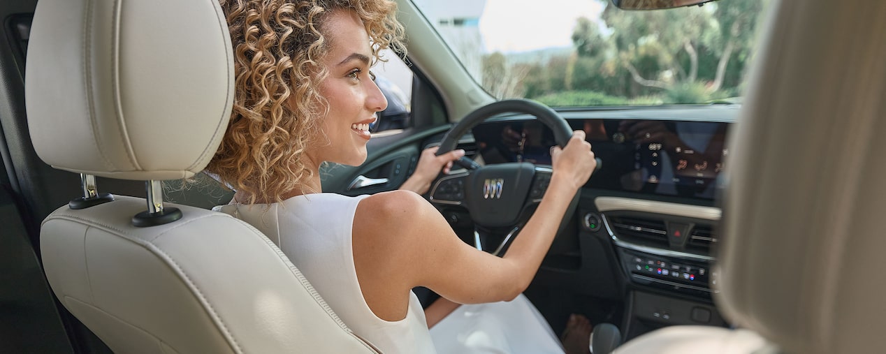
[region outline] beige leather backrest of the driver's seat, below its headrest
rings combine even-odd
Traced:
[[[66,308],[120,353],[371,352],[283,252],[227,214],[133,227],[118,196],[43,221],[43,266]]]

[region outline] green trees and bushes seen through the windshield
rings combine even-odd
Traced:
[[[494,53],[483,61],[484,87],[555,106],[698,104],[742,92],[766,0],[645,12],[600,1],[603,23],[577,19],[571,53]]]

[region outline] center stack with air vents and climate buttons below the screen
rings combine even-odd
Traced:
[[[711,301],[719,209],[597,196],[586,229],[610,238],[628,291],[626,339],[670,325],[726,326]]]

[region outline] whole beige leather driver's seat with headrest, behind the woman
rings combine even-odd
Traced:
[[[176,212],[159,189],[95,192],[91,175],[153,188],[212,158],[234,81],[215,1],[41,0],[30,38],[35,149],[84,173],[85,200],[71,204],[82,209],[60,207],[41,230],[46,275],[74,316],[121,353],[375,351],[253,227]]]

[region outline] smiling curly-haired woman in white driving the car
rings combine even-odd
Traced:
[[[494,257],[461,242],[414,192],[319,193],[323,162],[361,165],[367,157],[369,124],[386,106],[369,67],[379,50],[403,49],[395,4],[220,2],[236,56],[236,96],[229,128],[207,169],[237,190],[223,212],[265,232],[354,333],[385,352],[433,351],[411,291],[416,286],[451,301],[431,306],[440,310],[429,309],[431,325],[454,310],[451,304],[520,295],[572,196],[594,170],[582,132],[565,149],[552,149],[547,194],[507,255]],[[426,190],[460,154],[425,156],[404,187]]]

